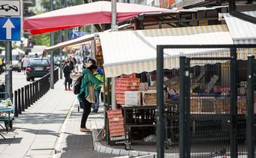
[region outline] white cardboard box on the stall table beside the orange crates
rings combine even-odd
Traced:
[[[140,91],[126,91],[124,93],[124,104],[140,106],[141,105]]]

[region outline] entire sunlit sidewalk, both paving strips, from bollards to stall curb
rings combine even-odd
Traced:
[[[8,133],[0,129],[6,138],[0,137],[1,158],[131,158],[150,154],[126,151],[123,146],[114,149],[97,140],[96,135],[104,126],[103,105],[97,114],[89,115],[86,126],[93,131],[80,132],[83,109],[78,111],[76,96],[72,91],[64,91],[62,83],[59,80],[53,90],[15,117]]]

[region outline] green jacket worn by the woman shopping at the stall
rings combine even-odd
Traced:
[[[83,100],[83,97],[87,97],[89,94],[89,81],[93,86],[98,86],[101,84],[101,81],[99,81],[88,69],[82,71],[83,79],[81,83],[81,90],[80,94],[77,95],[77,98],[79,101]],[[85,92],[85,95],[83,95],[83,92]]]

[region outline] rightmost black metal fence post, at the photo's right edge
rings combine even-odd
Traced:
[[[248,57],[248,109],[246,117],[246,143],[248,158],[254,158],[254,56]]]

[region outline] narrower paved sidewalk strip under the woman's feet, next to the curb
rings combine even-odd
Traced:
[[[56,143],[56,158],[82,158],[82,157],[97,157],[97,158],[110,158],[116,155],[109,153],[98,153],[93,150],[93,137],[92,133],[80,132],[80,121],[83,114],[83,109],[78,111],[79,103],[76,101],[73,104],[69,115],[63,123],[61,134],[58,142]],[[103,107],[101,107],[103,109]],[[101,128],[103,127],[103,114],[89,115],[86,127]]]

